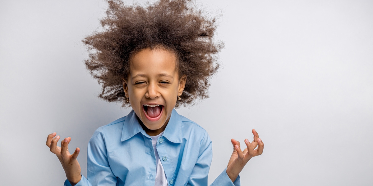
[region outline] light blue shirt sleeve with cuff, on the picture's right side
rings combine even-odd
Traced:
[[[193,167],[192,174],[189,177],[187,186],[207,186],[207,176],[209,174],[212,161],[212,142],[209,134],[205,131],[204,137],[201,140],[200,155]],[[232,182],[226,173],[226,168],[219,176],[211,183],[210,186],[240,186],[240,177]]]

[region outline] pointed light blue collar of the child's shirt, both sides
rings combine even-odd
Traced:
[[[163,136],[167,140],[174,143],[182,142],[182,121],[180,115],[175,109],[172,109],[171,118],[168,121],[166,128],[164,129]],[[135,134],[141,132],[142,135],[148,136],[144,129],[142,129],[140,123],[137,120],[137,116],[134,110],[128,113],[123,124],[122,139],[120,141],[128,140]]]

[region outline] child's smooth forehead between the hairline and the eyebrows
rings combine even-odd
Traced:
[[[142,49],[137,52],[130,63],[130,76],[145,74],[153,76],[158,74],[175,75],[176,56],[164,49]]]

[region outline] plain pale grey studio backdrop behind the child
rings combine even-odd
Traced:
[[[252,141],[254,128],[264,152],[242,170],[242,186],[372,185],[373,2],[197,3],[223,14],[222,66],[210,98],[177,111],[210,134],[209,184],[228,164],[231,138]],[[46,146],[52,132],[70,136],[70,150],[81,148],[86,176],[93,132],[131,111],[98,99],[101,86],[84,66],[81,40],[105,7],[1,1],[1,185],[63,185],[65,172]]]

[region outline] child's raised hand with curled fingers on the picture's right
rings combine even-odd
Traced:
[[[246,163],[254,156],[260,155],[263,153],[264,144],[263,141],[259,138],[258,132],[253,129],[254,141],[251,143],[248,139],[245,140],[247,148],[242,152],[241,147],[238,141],[232,139],[233,153],[231,159],[229,159],[227,166],[227,174],[229,178],[234,182],[244,168]],[[259,145],[258,149],[255,149]]]

